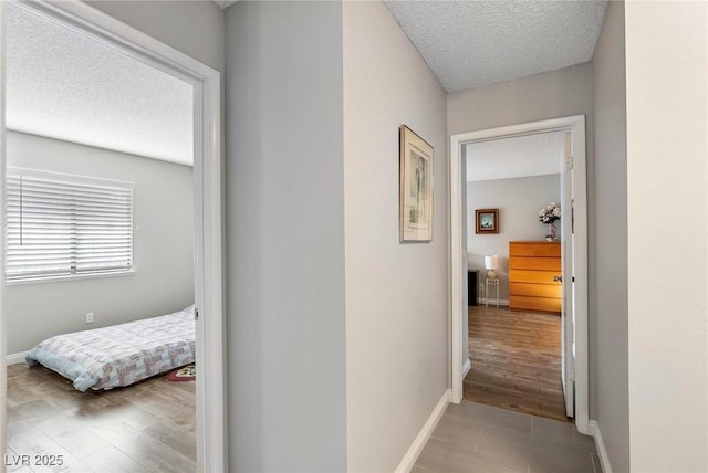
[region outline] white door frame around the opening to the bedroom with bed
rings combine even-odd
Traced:
[[[1,1],[4,3],[4,1]],[[196,385],[197,403],[197,471],[226,472],[226,371],[223,277],[221,255],[221,77],[219,72],[165,43],[79,1],[17,2],[40,12],[75,31],[90,32],[123,53],[143,61],[167,74],[194,84],[194,190],[195,190],[195,305],[199,311],[196,323],[196,358],[200,367]],[[0,49],[4,44],[4,21],[0,7]],[[0,103],[4,116],[4,63],[0,77]],[[0,122],[0,125],[3,123]],[[4,188],[4,126],[0,129],[0,188]],[[4,192],[2,192],[3,195]],[[1,201],[0,201],[1,203]],[[1,210],[4,221],[4,206]],[[0,232],[2,233],[2,232]],[[2,243],[2,240],[0,240]],[[1,248],[4,248],[2,244]],[[4,253],[0,251],[0,253]],[[4,274],[0,259],[0,274]],[[3,280],[3,278],[0,278]],[[4,303],[4,285],[0,286],[0,303]],[[2,307],[2,320],[4,307]],[[0,322],[1,323],[1,322]],[[0,339],[4,340],[4,332]],[[0,357],[6,357],[4,341],[0,341]],[[6,399],[6,372],[2,362],[0,397]],[[6,449],[4,402],[0,408],[0,453]],[[4,462],[2,462],[4,463]],[[4,471],[4,466],[0,466]]]

